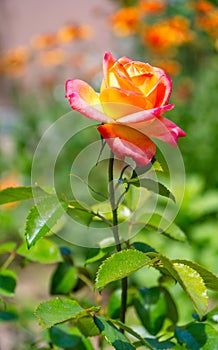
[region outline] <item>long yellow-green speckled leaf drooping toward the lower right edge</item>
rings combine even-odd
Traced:
[[[191,267],[173,263],[165,256],[160,255],[160,260],[164,267],[170,272],[176,281],[182,286],[185,292],[191,298],[196,312],[202,318],[208,308],[207,289],[201,275]]]

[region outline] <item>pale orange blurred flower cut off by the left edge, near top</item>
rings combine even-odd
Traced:
[[[20,77],[27,68],[29,57],[29,50],[22,46],[4,52],[0,60],[1,73],[9,77]]]

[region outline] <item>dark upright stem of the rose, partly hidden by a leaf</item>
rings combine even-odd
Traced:
[[[113,170],[114,170],[114,154],[111,152],[110,159],[109,159],[109,167],[108,167],[108,178],[109,178],[110,203],[111,203],[111,209],[112,209],[112,215],[113,215],[112,230],[113,230],[117,251],[120,252],[122,250],[122,247],[121,247],[119,231],[118,231],[118,215],[117,215],[118,206],[115,201]],[[122,279],[121,288],[122,288],[122,294],[121,294],[120,321],[125,323],[126,308],[127,308],[127,288],[128,288],[127,277]],[[121,328],[120,331],[124,333],[124,329]]]

